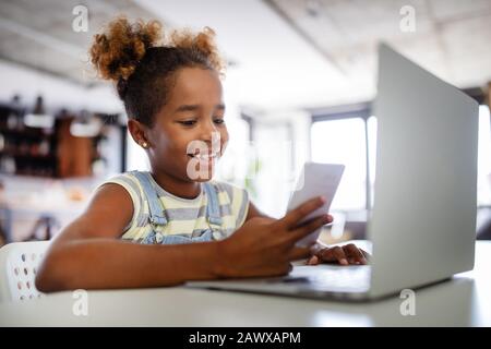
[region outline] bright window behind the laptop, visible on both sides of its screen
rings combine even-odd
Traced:
[[[367,111],[368,109],[364,115],[369,115]],[[312,161],[346,165],[345,174],[333,202],[334,209],[363,209],[367,207],[367,201],[370,201],[370,207],[373,206],[376,118],[374,116],[364,118],[363,112],[359,113],[359,117],[350,118],[335,113],[313,117]],[[489,107],[484,105],[479,107],[477,204],[491,206],[491,116]]]

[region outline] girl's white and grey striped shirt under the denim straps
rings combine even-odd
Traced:
[[[116,183],[121,185],[130,194],[133,202],[133,217],[123,230],[121,237],[123,240],[142,242],[152,230],[164,236],[190,234],[195,237],[209,228],[206,220],[208,202],[207,196],[203,193],[203,186],[196,197],[182,198],[158,185],[149,172],[143,173],[148,176],[152,185],[155,188],[168,222],[166,226],[154,229],[148,221],[148,201],[140,181],[131,172],[118,174],[103,184]],[[209,183],[217,191],[223,220],[221,231],[218,234],[214,233],[214,239],[219,240],[230,236],[243,225],[249,209],[249,195],[246,190],[225,182],[211,181]]]

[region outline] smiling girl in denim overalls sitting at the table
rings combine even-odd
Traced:
[[[116,83],[128,129],[152,170],[120,174],[95,191],[86,210],[52,241],[36,287],[50,292],[276,276],[307,257],[310,264],[367,263],[352,244],[295,245],[332,221],[326,214],[298,224],[324,198],[273,219],[244,190],[211,180],[228,141],[214,33],[173,32],[158,45],[160,31],[155,21],[119,17],[95,36],[92,62]]]

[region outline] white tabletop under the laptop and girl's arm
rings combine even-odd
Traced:
[[[372,303],[294,299],[183,287],[89,291],[88,314],[74,315],[72,292],[0,304],[2,326],[491,326],[491,242],[477,242],[476,267],[416,291]]]

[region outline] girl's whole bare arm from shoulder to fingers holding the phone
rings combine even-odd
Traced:
[[[103,185],[86,212],[52,241],[36,276],[43,292],[69,289],[157,287],[187,280],[276,276],[310,255],[295,243],[326,224],[327,216],[298,227],[322,206],[311,200],[282,219],[250,219],[229,238],[190,244],[142,245],[120,240],[133,216],[130,195]]]

